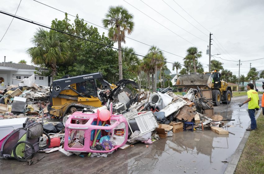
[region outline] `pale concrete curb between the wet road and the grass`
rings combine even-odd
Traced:
[[[262,109],[258,110],[257,112],[257,115],[256,115],[256,120],[257,118],[259,117],[260,113],[262,112]],[[250,125],[249,125],[250,126]],[[225,172],[224,174],[230,174],[230,173],[234,173],[235,169],[236,169],[236,166],[237,166],[237,163],[239,162],[239,158],[242,154],[242,151],[248,141],[248,136],[250,134],[250,131],[246,131],[242,140],[240,141],[236,151],[234,152],[234,154],[231,156],[231,160],[230,162],[228,163],[226,169],[225,169]]]

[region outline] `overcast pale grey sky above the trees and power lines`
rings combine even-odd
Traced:
[[[89,21],[89,25],[102,26],[102,19],[109,6],[122,5],[134,15],[134,31],[127,35],[125,46],[133,47],[140,55],[148,52],[148,45],[155,45],[166,51],[168,62],[179,61],[183,64],[186,50],[197,47],[203,52],[199,59],[205,71],[208,71],[209,33],[212,35],[212,59],[221,61],[225,69],[233,74],[246,75],[251,67],[264,70],[264,1],[263,0],[38,0],[71,15]],[[62,20],[64,13],[40,4],[34,0],[1,0],[0,10],[50,26],[55,18]],[[0,13],[0,40],[5,34],[12,17]],[[73,17],[69,16],[71,21]],[[93,24],[91,24],[93,23]],[[95,26],[93,25],[93,26]],[[96,26],[98,27],[98,26]],[[19,19],[14,19],[0,42],[0,61],[4,56],[8,61],[19,62],[30,57],[25,53],[32,47],[30,39],[38,28]],[[107,30],[98,27],[100,34]],[[142,42],[142,43],[140,43]],[[144,43],[144,44],[143,44]],[[115,44],[117,47],[117,44]],[[124,46],[124,44],[123,44]],[[178,55],[178,56],[175,56]],[[260,60],[255,60],[260,59]],[[237,61],[237,62],[235,62]],[[243,62],[245,61],[245,62]],[[172,71],[172,66],[168,63]],[[175,73],[175,71],[172,71]]]

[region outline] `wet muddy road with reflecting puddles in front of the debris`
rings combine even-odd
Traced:
[[[250,125],[247,104],[241,108],[238,106],[246,98],[247,96],[232,98],[227,112],[227,105],[214,107],[215,114],[222,115],[223,119],[235,119],[224,121],[224,129],[230,132],[229,135],[218,135],[210,130],[184,131],[157,140],[149,147],[138,143],[134,147],[118,149],[107,158],[89,158],[87,153],[83,153],[84,158],[76,155],[67,157],[60,152],[36,153],[34,161],[43,156],[45,158],[31,166],[15,159],[0,159],[0,174],[222,174]]]

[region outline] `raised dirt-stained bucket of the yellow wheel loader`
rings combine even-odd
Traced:
[[[212,88],[212,76],[209,74],[187,74],[181,75],[176,81],[178,87],[188,87],[196,89],[198,87],[208,86]]]

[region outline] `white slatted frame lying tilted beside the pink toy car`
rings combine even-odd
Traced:
[[[153,112],[139,112],[131,115],[130,117],[127,117],[127,121],[129,120],[135,120],[137,125],[139,126],[140,134],[135,136],[133,134],[133,131],[131,129],[130,124],[128,123],[128,126],[131,130],[131,133],[134,135],[134,138],[139,137],[141,135],[144,135],[148,132],[154,131],[158,127],[158,123],[156,121],[155,116],[153,115]],[[134,139],[132,138],[132,139]]]

